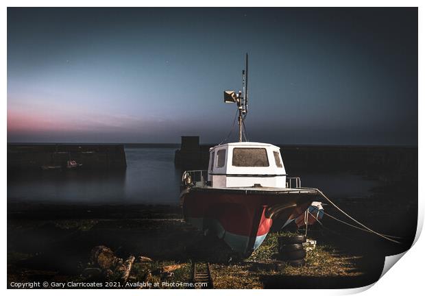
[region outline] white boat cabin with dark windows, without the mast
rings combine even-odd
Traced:
[[[280,148],[274,145],[238,142],[210,148],[208,184],[213,188],[285,188],[286,177]]]

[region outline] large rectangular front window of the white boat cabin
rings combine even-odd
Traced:
[[[234,167],[269,167],[265,148],[234,148],[232,165]]]

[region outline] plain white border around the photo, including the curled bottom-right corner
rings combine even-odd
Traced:
[[[56,6],[56,7],[71,7],[71,6],[81,6],[81,7],[87,7],[87,6],[127,6],[127,7],[135,7],[135,6],[210,6],[210,7],[219,7],[219,6],[245,6],[245,7],[258,7],[258,6],[288,6],[288,7],[315,7],[318,4],[321,6],[339,6],[339,7],[356,7],[356,6],[363,6],[363,7],[419,7],[419,81],[423,81],[423,70],[424,70],[424,60],[422,58],[423,54],[423,40],[424,40],[424,13],[422,11],[422,5],[421,1],[365,1],[365,0],[358,0],[358,1],[344,1],[343,3],[341,1],[302,1],[301,3],[298,2],[289,2],[289,1],[223,1],[223,0],[217,0],[217,1],[209,1],[209,2],[202,2],[199,3],[199,1],[130,1],[130,0],[121,0],[121,1],[91,1],[91,0],[75,0],[75,1],[3,1],[3,10],[1,10],[1,35],[3,40],[3,46],[1,47],[1,53],[2,53],[2,65],[3,65],[3,79],[1,79],[1,86],[4,94],[4,98],[7,98],[7,86],[6,86],[6,79],[7,79],[7,42],[6,42],[6,33],[7,33],[7,10],[6,7],[8,6]],[[419,84],[419,97],[422,98],[424,95],[422,84]],[[7,116],[7,103],[6,99],[3,99],[1,102],[1,113],[4,114],[3,117],[3,129],[1,130],[1,136],[3,136],[4,139],[6,139],[7,142],[7,130],[6,130],[6,116]],[[423,114],[424,104],[422,100],[419,101],[419,112],[420,114]],[[419,147],[423,147],[423,141],[424,141],[424,121],[419,116]],[[1,162],[2,164],[5,164],[7,161],[6,158],[6,145],[3,143],[1,146]],[[421,152],[421,149],[420,149]],[[419,157],[419,167],[424,167],[424,158],[422,157],[420,153]],[[6,169],[3,165],[3,169],[1,170],[1,188],[2,192],[6,193]],[[422,171],[420,171],[419,175],[419,184],[425,184],[424,183],[424,174]],[[424,239],[417,240],[419,237],[420,232],[422,231],[422,225],[424,221],[424,203],[423,203],[423,197],[424,197],[424,188],[419,188],[419,196],[421,197],[419,199],[419,219],[418,219],[418,227],[417,227],[417,236],[415,238],[415,245],[413,246],[413,249],[411,251],[408,251],[405,256],[398,262],[396,268],[392,268],[389,270],[382,279],[378,281],[378,284],[370,285],[363,288],[356,288],[356,289],[345,289],[345,290],[295,290],[295,291],[281,291],[281,290],[263,290],[263,291],[254,291],[254,290],[248,290],[244,291],[246,294],[256,295],[258,293],[273,293],[276,295],[281,293],[297,293],[297,295],[310,295],[311,293],[315,293],[316,295],[345,295],[345,294],[352,294],[352,293],[359,293],[361,291],[365,291],[365,294],[369,293],[369,295],[372,295],[370,293],[379,293],[384,294],[388,293],[389,295],[395,295],[395,294],[402,294],[406,295],[406,293],[413,293],[415,294],[418,291],[422,291],[422,269],[424,267],[424,255],[421,254],[420,250],[424,249]],[[6,198],[3,197],[3,227],[1,228],[1,237],[3,239],[6,239]],[[1,254],[3,254],[3,262],[1,263],[1,278],[3,279],[3,288],[7,286],[7,269],[6,269],[6,243],[3,240],[3,244],[1,244]],[[370,288],[373,286],[373,288]],[[25,293],[34,293],[36,295],[46,295],[46,294],[56,294],[56,293],[64,293],[68,295],[74,295],[75,293],[84,293],[84,294],[93,294],[93,293],[102,293],[105,295],[116,295],[117,293],[149,293],[149,295],[160,295],[162,293],[167,293],[165,290],[160,291],[113,291],[113,290],[107,290],[107,291],[70,291],[70,290],[62,290],[62,291],[14,291],[14,290],[8,290],[7,293],[10,294],[25,294]],[[169,291],[169,293],[173,293],[173,295],[186,295],[186,294],[199,294],[200,291],[179,291],[179,290],[172,290]],[[210,293],[217,293],[217,291],[202,291],[202,293],[210,294]],[[218,290],[218,293],[228,293],[228,291]],[[234,291],[230,293],[239,293]]]

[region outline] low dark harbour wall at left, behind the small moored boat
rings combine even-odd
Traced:
[[[124,145],[8,144],[9,171],[37,171],[42,166],[66,166],[68,160],[83,170],[125,170]]]

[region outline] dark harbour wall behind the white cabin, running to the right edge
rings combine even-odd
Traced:
[[[192,145],[186,138],[175,151],[175,166],[182,170],[207,169],[210,145]],[[417,180],[417,147],[390,146],[315,146],[276,145],[280,147],[289,175],[303,173],[349,172],[380,180]]]

